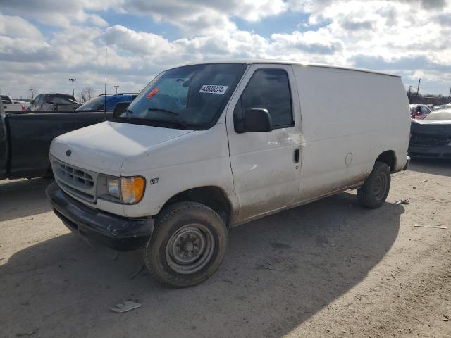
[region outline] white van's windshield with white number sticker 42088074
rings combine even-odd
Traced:
[[[166,70],[113,120],[175,129],[208,129],[218,120],[246,67],[244,63],[213,63]]]

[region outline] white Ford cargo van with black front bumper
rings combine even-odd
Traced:
[[[378,101],[374,101],[377,94]],[[110,120],[54,139],[47,196],[72,230],[144,248],[159,282],[211,276],[228,227],[359,188],[380,207],[407,166],[400,77],[280,61],[160,73]]]

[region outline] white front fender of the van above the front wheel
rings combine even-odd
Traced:
[[[124,206],[125,216],[156,215],[171,197],[196,187],[220,188],[233,211],[238,210],[224,123],[128,158],[121,175],[142,175],[147,181],[144,198],[139,204]]]

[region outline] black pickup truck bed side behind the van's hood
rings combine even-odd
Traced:
[[[0,180],[51,175],[51,140],[104,120],[103,112],[7,114],[1,106]]]

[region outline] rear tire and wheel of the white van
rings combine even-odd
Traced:
[[[357,189],[359,203],[366,208],[376,209],[382,206],[390,191],[390,168],[386,163],[374,163],[373,170],[362,187]]]

